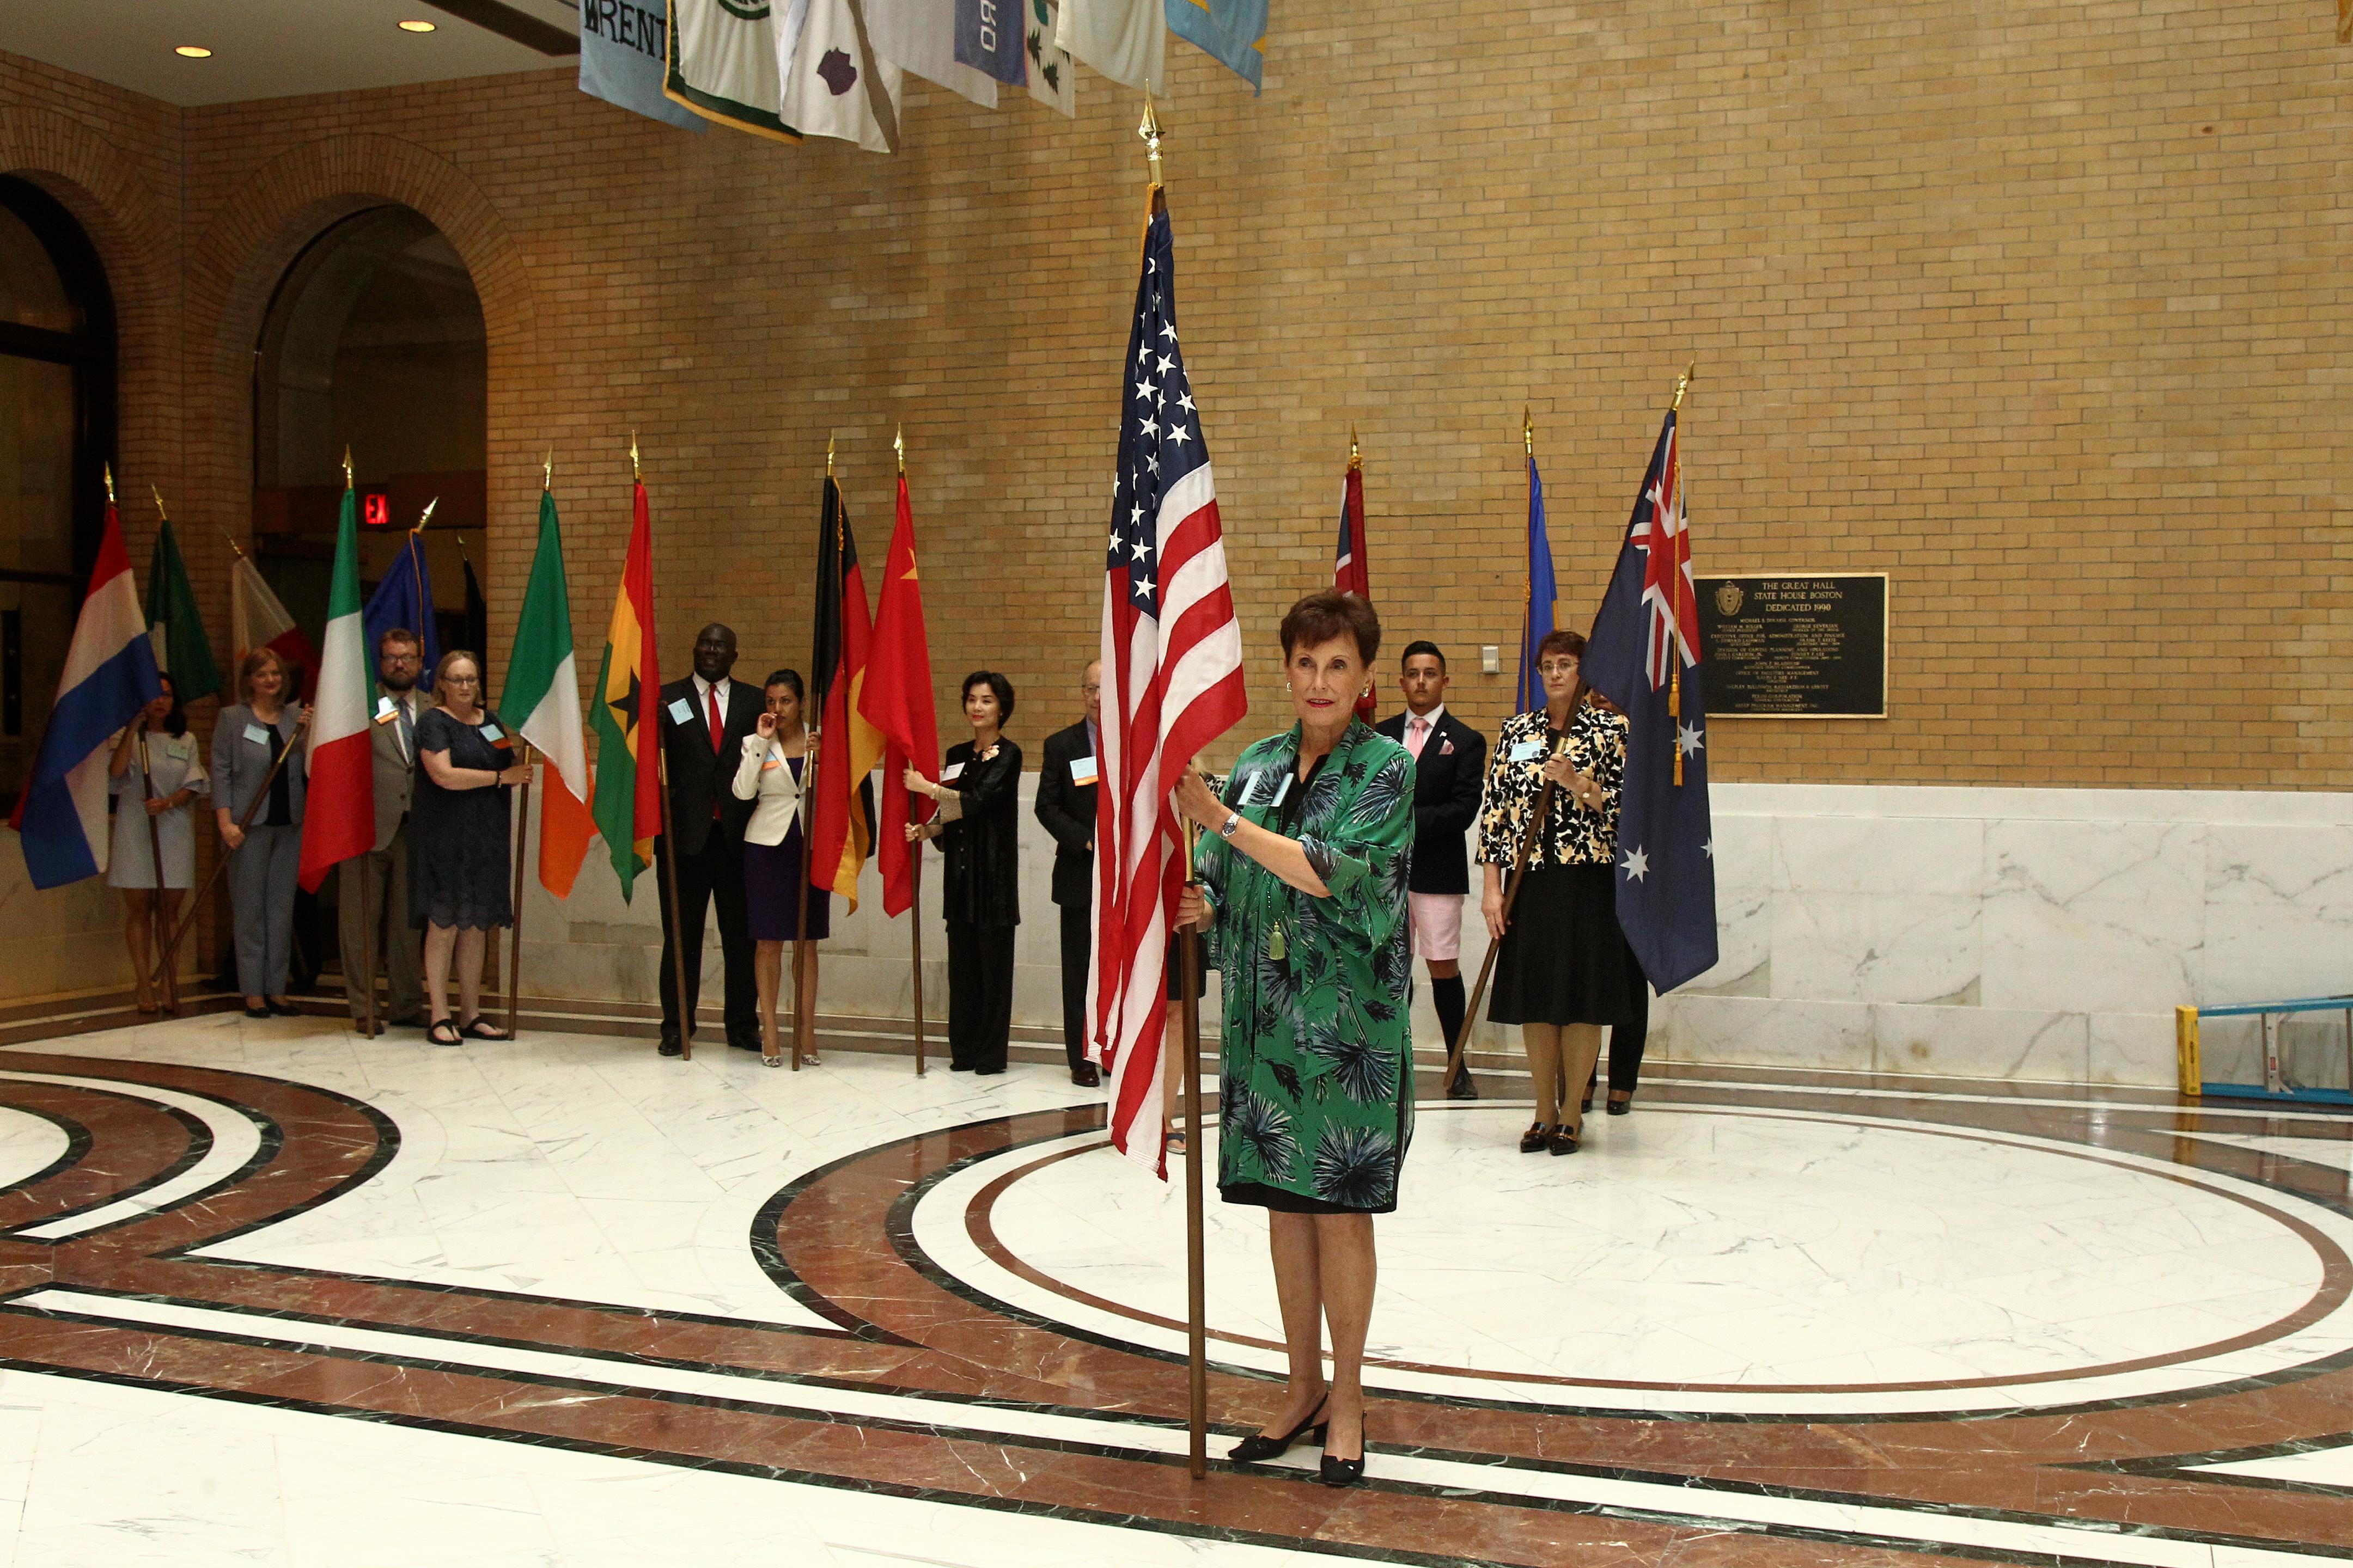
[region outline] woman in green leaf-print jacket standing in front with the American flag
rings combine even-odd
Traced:
[[[1365,599],[1294,604],[1282,663],[1299,724],[1245,750],[1224,797],[1200,778],[1176,790],[1209,830],[1179,924],[1209,926],[1224,983],[1219,1197],[1268,1211],[1292,1371],[1285,1408],[1233,1458],[1268,1460],[1306,1434],[1325,1443],[1332,1486],[1365,1474],[1372,1215],[1398,1206],[1414,1128],[1414,762],[1355,719],[1379,646]]]

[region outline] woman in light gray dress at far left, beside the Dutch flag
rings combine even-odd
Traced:
[[[153,771],[153,780],[151,780]],[[115,797],[115,837],[106,856],[106,886],[122,891],[122,940],[132,950],[139,978],[139,1011],[155,1011],[155,943],[162,922],[179,922],[179,896],[195,884],[195,811],[191,802],[212,792],[205,773],[205,748],[188,733],[188,715],[179,708],[179,682],[162,677],[162,696],[139,710],[139,717],[115,736],[106,759],[108,790]],[[153,823],[153,827],[148,827]],[[155,851],[162,849],[162,877],[155,877]]]

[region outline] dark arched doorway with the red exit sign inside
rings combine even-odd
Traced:
[[[482,562],[487,418],[482,301],[424,214],[369,207],[294,259],[254,353],[254,562],[313,637],[348,449],[372,520],[362,590],[433,501],[424,541],[440,644],[480,646],[480,595],[468,590]]]

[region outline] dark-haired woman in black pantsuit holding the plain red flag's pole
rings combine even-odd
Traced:
[[[946,839],[948,882],[948,1067],[1005,1072],[1014,1027],[1014,926],[1021,924],[1016,846],[1021,748],[998,733],[1014,717],[1014,684],[995,670],[965,677],[972,741],[948,748],[932,783],[913,766],[906,788],[939,802],[939,816],[906,837]]]

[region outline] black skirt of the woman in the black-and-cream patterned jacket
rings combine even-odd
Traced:
[[[1487,1023],[1633,1023],[1642,966],[1607,865],[1529,865],[1494,959]]]

